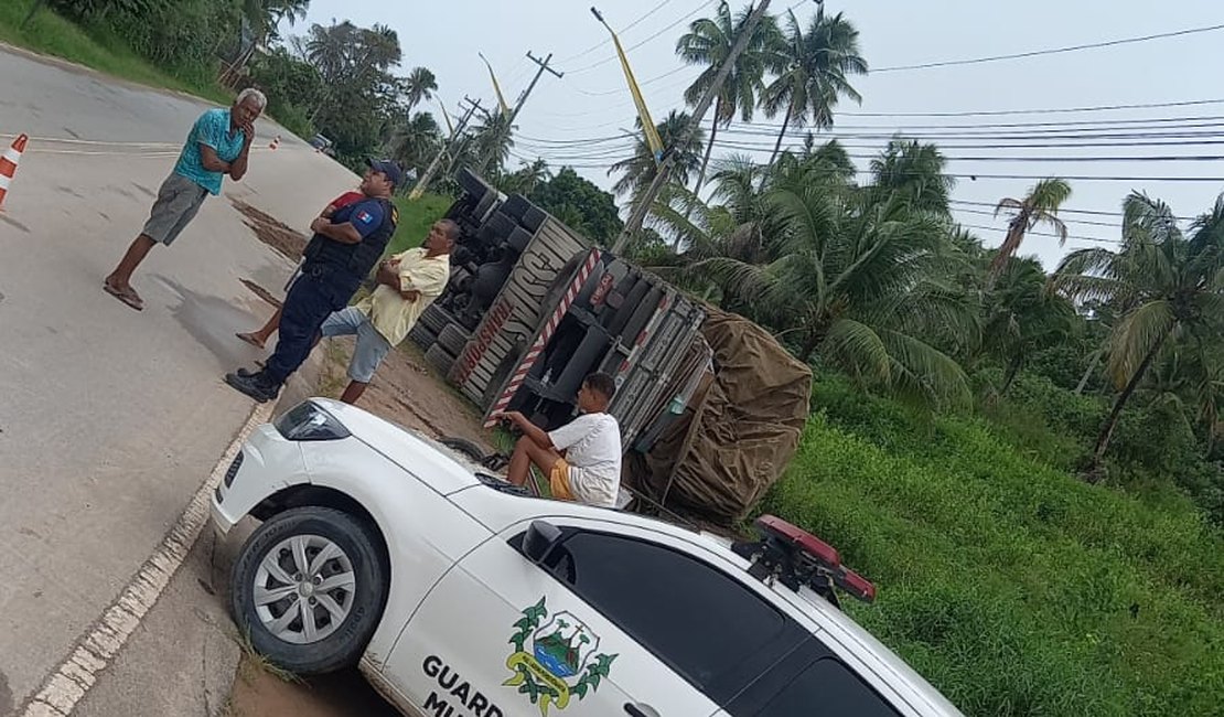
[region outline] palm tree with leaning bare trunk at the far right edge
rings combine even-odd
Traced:
[[[1129,307],[1110,334],[1106,370],[1120,393],[1093,448],[1091,481],[1102,475],[1122,409],[1162,352],[1218,333],[1224,316],[1224,195],[1195,220],[1189,239],[1163,202],[1131,193],[1122,207],[1121,248],[1071,252],[1053,279],[1069,299]]]

